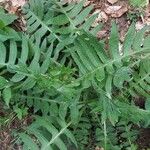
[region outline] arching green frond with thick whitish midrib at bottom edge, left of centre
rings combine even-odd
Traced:
[[[53,123],[55,123],[55,126]],[[57,128],[56,123],[58,124]],[[36,117],[36,121],[27,128],[26,133],[19,133],[18,136],[21,138],[23,147],[26,150],[31,148],[33,150],[53,150],[55,148],[67,150],[67,140],[77,146],[74,136],[67,129],[70,124],[52,117]],[[34,141],[31,136],[34,137]]]

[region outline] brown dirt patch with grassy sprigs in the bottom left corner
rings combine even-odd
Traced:
[[[9,117],[7,118],[7,116]],[[23,127],[27,127],[29,124],[31,124],[33,118],[28,115],[24,119],[19,120],[14,114],[1,111],[0,119],[2,117],[6,117],[6,120],[0,126],[0,150],[21,150],[21,145],[15,144],[16,139],[12,133],[15,130],[19,131]]]

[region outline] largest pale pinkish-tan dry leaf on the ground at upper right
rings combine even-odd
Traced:
[[[105,9],[106,14],[111,17],[119,18],[128,11],[127,6],[108,6]]]

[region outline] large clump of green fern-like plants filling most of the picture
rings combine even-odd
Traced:
[[[136,150],[135,125],[150,125],[150,27],[132,24],[120,49],[113,22],[105,49],[92,9],[30,0],[25,33],[9,26],[16,16],[0,11],[1,103],[20,119],[33,116],[14,134],[24,150],[85,150],[93,139],[105,150]],[[144,108],[135,104],[140,97]]]

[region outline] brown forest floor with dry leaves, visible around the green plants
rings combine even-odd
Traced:
[[[65,1],[70,2],[71,0]],[[4,7],[6,11],[19,16],[20,19],[14,24],[15,28],[19,30],[25,30],[25,21],[21,14],[21,7],[25,3],[26,0],[0,0],[0,5]],[[150,5],[147,5],[145,8],[133,8],[127,0],[88,0],[85,7],[92,4],[94,5],[93,13],[99,13],[99,16],[93,26],[99,23],[104,24],[102,30],[97,33],[97,37],[99,39],[109,39],[112,20],[115,20],[119,26],[121,42],[124,40],[128,27],[132,22],[135,22],[137,30],[142,29],[144,25],[150,25]],[[138,105],[142,107],[142,104]],[[9,121],[11,120],[7,126],[1,128],[0,150],[10,150],[10,145],[14,140],[11,137],[11,131],[22,126],[26,126],[32,121],[32,118],[30,117],[26,117],[24,120],[20,121],[13,118],[10,113],[11,112],[4,112],[0,106],[0,121],[1,118],[5,116],[9,116]],[[147,149],[150,147],[150,128],[139,130],[141,133],[137,140],[139,150]],[[16,147],[16,149],[21,148]],[[96,150],[101,149],[96,148]]]

